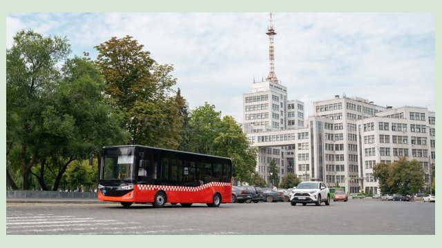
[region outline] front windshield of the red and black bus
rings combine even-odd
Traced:
[[[120,183],[135,182],[133,147],[113,147],[104,149],[100,179],[117,180]]]

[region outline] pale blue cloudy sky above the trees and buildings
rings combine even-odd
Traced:
[[[73,54],[131,35],[173,64],[191,109],[204,102],[242,122],[242,94],[269,73],[268,13],[10,13],[6,46],[22,29],[67,37]],[[290,100],[339,94],[434,111],[434,14],[273,13],[276,76]]]

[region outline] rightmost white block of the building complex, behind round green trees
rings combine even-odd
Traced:
[[[360,144],[361,187],[378,194],[373,177],[376,163],[392,163],[399,157],[416,159],[425,173],[425,187],[430,187],[431,165],[436,159],[435,114],[424,107],[399,107],[379,112],[372,118],[358,121]]]

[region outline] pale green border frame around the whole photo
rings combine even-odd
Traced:
[[[437,27],[441,27],[442,4],[437,0],[21,0],[2,3],[0,31],[3,34],[1,45],[2,59],[0,94],[3,102],[0,104],[1,116],[6,119],[6,13],[8,12],[432,12],[436,19]],[[441,70],[437,70],[441,61],[439,48],[441,32],[436,32],[436,92],[441,92]],[[439,63],[438,63],[439,62]],[[423,89],[425,90],[425,89]],[[431,92],[430,94],[436,94]],[[442,100],[435,98],[435,112],[441,112]],[[437,118],[436,118],[437,120]],[[436,121],[436,127],[441,127],[441,120]],[[0,183],[6,185],[5,161],[6,161],[6,122],[0,122],[1,143],[0,154],[3,161]],[[436,136],[436,153],[441,151],[440,135]],[[439,147],[439,148],[438,148]],[[439,169],[436,169],[439,171]],[[436,178],[436,186],[441,180]],[[6,213],[6,190],[1,194],[3,205],[1,210]],[[79,247],[79,246],[112,246],[119,245],[149,247],[159,245],[162,247],[273,247],[301,245],[325,246],[325,247],[376,247],[381,245],[401,247],[418,247],[419,245],[436,245],[439,238],[441,221],[439,209],[436,205],[436,235],[425,236],[6,236],[6,214],[0,219],[2,245],[7,247]],[[367,214],[367,213],[361,213]],[[406,216],[405,216],[406,217]],[[412,227],[410,227],[412,228]],[[314,233],[312,233],[314,235]],[[131,239],[134,238],[134,239]],[[136,241],[135,241],[136,240]],[[278,240],[278,241],[275,241]]]

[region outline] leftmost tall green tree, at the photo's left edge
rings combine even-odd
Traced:
[[[30,188],[32,167],[48,153],[40,114],[45,93],[59,81],[57,63],[69,52],[66,38],[43,37],[33,31],[18,32],[12,48],[6,51],[6,143],[19,147],[23,189]],[[12,179],[10,170],[6,172]]]

